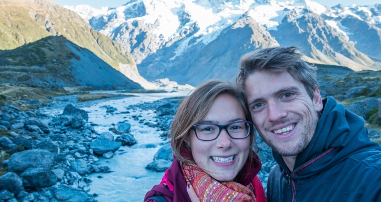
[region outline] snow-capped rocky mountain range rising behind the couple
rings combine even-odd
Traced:
[[[298,46],[313,63],[381,69],[381,5],[332,8],[310,0],[126,0],[66,7],[130,50],[148,80],[197,85],[235,77],[241,55]]]

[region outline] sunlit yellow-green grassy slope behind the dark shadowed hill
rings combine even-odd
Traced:
[[[119,63],[135,65],[130,53],[120,44],[50,0],[3,0],[0,11],[0,50],[12,50],[48,36],[63,36],[116,70],[120,70]]]

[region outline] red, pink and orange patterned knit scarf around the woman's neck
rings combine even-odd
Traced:
[[[200,168],[186,163],[181,164],[181,170],[202,202],[256,201],[251,183],[244,186],[233,181],[219,182]]]

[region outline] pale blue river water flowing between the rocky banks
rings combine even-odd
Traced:
[[[100,165],[107,165],[113,172],[111,173],[92,173],[87,176],[92,180],[90,185],[90,194],[98,194],[95,197],[99,202],[103,201],[143,201],[148,190],[155,184],[158,184],[164,172],[154,172],[145,169],[147,164],[153,161],[155,153],[167,144],[168,140],[162,140],[160,135],[162,131],[157,128],[151,128],[139,121],[135,121],[132,116],[140,115],[139,119],[145,119],[145,122],[156,123],[155,113],[153,111],[132,111],[131,114],[118,114],[127,111],[125,107],[171,96],[184,96],[189,91],[178,91],[171,93],[144,93],[135,94],[137,97],[126,97],[122,99],[107,100],[88,108],[81,108],[88,112],[89,122],[98,124],[94,129],[98,132],[106,132],[111,128],[111,124],[119,121],[128,120],[132,125],[131,134],[137,139],[138,144],[128,147],[123,146],[117,151],[111,159],[99,157]],[[106,109],[101,106],[112,106],[117,108],[114,115],[106,114]],[[147,145],[155,147],[147,148]],[[102,176],[98,178],[97,176]]]

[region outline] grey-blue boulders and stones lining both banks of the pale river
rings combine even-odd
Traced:
[[[346,76],[348,78],[350,74]],[[353,82],[342,78],[346,82]],[[334,95],[336,84],[332,79],[320,81],[323,96]],[[372,95],[378,92],[379,83],[363,83],[360,86],[337,90],[346,108],[364,117],[371,140],[381,143],[379,126],[381,99]],[[379,80],[378,80],[379,82]],[[346,83],[347,84],[347,83]],[[373,86],[373,87],[369,87]],[[38,99],[23,98],[21,104],[13,102],[0,108],[0,170],[1,201],[97,201],[97,194],[89,194],[92,173],[112,172],[112,168],[99,165],[99,159],[113,158],[122,146],[133,146],[137,141],[130,133],[131,124],[121,121],[112,124],[108,131],[97,132],[96,124],[88,121],[88,113],[81,107],[94,105],[100,100],[77,103],[79,95],[48,97],[49,105],[43,107]],[[108,99],[118,99],[112,97]],[[155,102],[131,105],[123,110],[102,106],[106,113],[123,114],[138,121],[139,125],[160,131],[167,138],[169,126],[177,106],[183,97],[159,99]],[[29,108],[28,108],[29,106]],[[29,109],[29,110],[25,110]],[[58,110],[62,113],[45,113]],[[146,121],[131,111],[153,111],[155,121]],[[117,112],[116,112],[117,111]],[[370,124],[370,125],[369,125]],[[259,174],[266,187],[269,171],[274,166],[270,148],[257,137],[258,154],[263,163]],[[162,146],[148,163],[146,169],[163,171],[173,160],[169,144]]]

